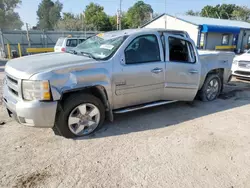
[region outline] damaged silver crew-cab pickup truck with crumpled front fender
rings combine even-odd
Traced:
[[[101,33],[70,53],[10,60],[3,100],[23,125],[79,137],[96,131],[105,118],[113,121],[114,113],[196,96],[215,100],[231,78],[233,58],[230,52],[198,52],[182,31]]]

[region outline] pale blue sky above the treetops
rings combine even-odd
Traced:
[[[63,3],[63,12],[79,14],[84,11],[87,4],[95,2],[102,5],[109,15],[114,15],[119,7],[120,0],[60,0]],[[122,0],[122,9],[127,10],[137,0]],[[17,9],[24,23],[31,26],[36,25],[36,11],[41,0],[22,0],[22,5]],[[165,12],[165,0],[144,0],[150,4],[154,12]],[[169,14],[184,14],[187,10],[200,10],[205,5],[216,5],[220,3],[235,3],[250,7],[250,0],[167,0],[166,10]]]

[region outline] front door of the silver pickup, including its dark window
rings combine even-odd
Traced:
[[[125,48],[120,63],[114,64],[114,108],[160,100],[163,96],[165,62],[158,36],[143,35]]]

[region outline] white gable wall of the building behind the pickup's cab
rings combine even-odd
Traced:
[[[197,45],[199,28],[197,25],[187,23],[171,16],[162,16],[159,19],[149,23],[145,28],[165,28],[165,17],[167,20],[166,29],[182,30],[188,32],[190,38]]]

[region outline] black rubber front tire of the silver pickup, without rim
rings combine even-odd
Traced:
[[[56,115],[55,126],[53,127],[54,133],[66,138],[81,137],[72,133],[68,127],[68,118],[73,109],[83,103],[90,103],[95,105],[100,111],[100,122],[98,126],[93,130],[92,134],[102,126],[105,119],[105,108],[100,99],[90,94],[72,94],[65,101],[61,102],[61,108],[59,107]],[[87,134],[88,135],[88,134]],[[84,135],[86,136],[86,135]]]

